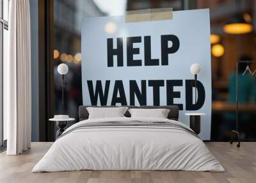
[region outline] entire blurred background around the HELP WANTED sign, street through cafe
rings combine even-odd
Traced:
[[[81,20],[83,17],[124,15],[146,8],[194,10],[209,8],[211,17],[212,141],[229,140],[236,127],[236,61],[256,60],[256,1],[253,0],[55,0],[54,83],[55,113],[78,118],[82,105]],[[70,26],[72,25],[72,26]],[[61,105],[61,76],[57,66],[66,63],[65,107]],[[248,63],[249,65],[249,63]],[[239,121],[242,138],[256,138],[256,64],[239,65]],[[254,74],[254,76],[253,76]]]

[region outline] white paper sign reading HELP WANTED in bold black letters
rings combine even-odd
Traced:
[[[209,10],[178,11],[173,19],[147,22],[125,23],[125,16],[86,18],[82,58],[84,105],[179,104],[180,122],[189,124],[185,113],[206,113],[200,137],[210,139]],[[202,66],[196,104],[193,63]]]

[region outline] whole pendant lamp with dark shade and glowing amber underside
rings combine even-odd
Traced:
[[[241,35],[252,32],[253,26],[250,22],[246,22],[242,15],[235,15],[228,20],[223,29],[225,33]]]

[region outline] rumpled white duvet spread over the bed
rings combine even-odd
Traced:
[[[92,122],[174,122],[160,118],[102,118]],[[71,131],[53,143],[32,172],[72,170],[225,171],[204,142],[165,127],[95,127]]]

